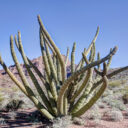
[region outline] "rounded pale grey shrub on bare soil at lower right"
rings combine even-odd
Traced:
[[[122,121],[123,115],[122,112],[119,110],[109,110],[105,113],[105,116],[109,118],[111,121]]]

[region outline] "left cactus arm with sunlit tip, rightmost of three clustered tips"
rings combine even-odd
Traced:
[[[23,58],[23,61],[24,61],[25,67],[26,67],[26,69],[27,69],[27,71],[28,71],[28,73],[29,73],[29,76],[30,76],[30,78],[31,78],[31,80],[32,80],[32,82],[33,82],[33,84],[35,85],[35,87],[36,87],[36,89],[37,89],[37,92],[38,92],[38,94],[39,94],[41,100],[43,101],[44,105],[48,108],[48,110],[49,110],[50,112],[52,112],[52,108],[51,108],[51,106],[50,106],[50,103],[49,103],[49,101],[48,101],[48,99],[47,99],[45,93],[43,92],[43,90],[42,90],[40,84],[38,83],[36,77],[34,76],[33,72],[32,72],[31,69],[30,69],[28,59],[27,59],[27,57],[26,57],[26,55],[25,55],[25,53],[24,53],[24,50],[23,50],[20,32],[18,32],[18,42],[19,42],[19,52],[20,52],[20,54],[21,54],[21,56],[22,56],[22,58]]]

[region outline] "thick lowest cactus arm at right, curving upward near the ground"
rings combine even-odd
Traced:
[[[76,113],[73,113],[72,116],[79,117],[79,116],[83,115],[88,109],[90,109],[94,105],[94,103],[101,97],[101,95],[105,91],[107,85],[108,85],[107,77],[103,76],[103,85],[100,87],[98,92],[90,99],[90,101],[85,106],[83,106]]]

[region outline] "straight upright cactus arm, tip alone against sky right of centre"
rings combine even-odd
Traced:
[[[71,73],[75,71],[75,49],[76,49],[76,42],[74,42],[72,47],[72,53],[71,53]]]

